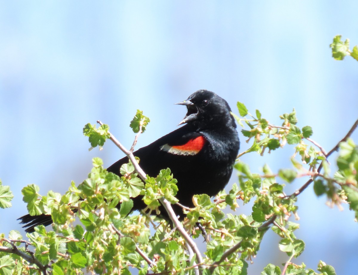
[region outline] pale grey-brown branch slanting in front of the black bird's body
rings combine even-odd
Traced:
[[[98,120],[97,123],[99,123],[100,125],[103,125],[103,123]],[[116,146],[121,149],[121,151],[123,153],[126,154],[126,156],[130,159],[130,161],[132,162],[133,166],[134,166],[134,170],[138,173],[139,177],[142,179],[142,181],[145,182],[146,180],[146,174],[145,172],[142,170],[142,168],[139,166],[139,164],[136,162],[136,159],[133,155],[133,153],[131,151],[128,151],[116,138],[115,136],[113,136],[110,132],[108,132],[108,134],[110,134],[110,139],[111,141],[116,144]],[[179,222],[178,218],[175,215],[175,212],[173,210],[173,208],[171,207],[170,202],[168,202],[165,198],[160,198],[159,201],[161,202],[161,204],[164,206],[165,210],[168,212],[169,218],[170,220],[173,222],[173,224],[177,227],[179,233],[182,235],[182,237],[184,238],[184,240],[187,242],[188,244],[188,250],[189,250],[189,254],[190,254],[190,249],[192,249],[195,254],[196,254],[196,258],[199,264],[201,264],[203,262],[203,258],[200,254],[200,251],[197,247],[197,245],[195,244],[195,242],[192,240],[192,238],[189,236],[189,234],[185,231],[183,225]],[[190,249],[189,249],[190,248]],[[196,267],[196,269],[198,270],[198,267]],[[197,271],[195,271],[197,272]]]

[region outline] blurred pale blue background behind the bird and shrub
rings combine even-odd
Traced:
[[[0,209],[0,232],[22,229],[21,188],[65,192],[81,183],[93,157],[110,166],[123,154],[108,142],[90,147],[83,126],[97,119],[127,147],[136,109],[151,123],[137,148],[176,129],[185,115],[173,105],[198,89],[259,109],[273,124],[296,109],[298,126],[329,151],[358,117],[358,63],[336,61],[329,44],[342,34],[358,44],[358,1],[1,1],[0,178],[14,193]],[[240,127],[239,127],[240,129]],[[240,133],[242,149],[249,147]],[[358,134],[353,138],[358,141]],[[291,168],[294,147],[242,157],[253,172],[267,163]],[[335,163],[337,155],[330,158]],[[334,170],[334,168],[332,169]],[[237,182],[233,173],[231,182]],[[294,181],[287,190],[303,184]],[[287,191],[289,192],[289,191]],[[310,186],[297,205],[296,236],[306,249],[295,259],[338,275],[357,272],[354,213],[325,205]],[[250,215],[249,206],[239,213]],[[248,274],[288,260],[279,237],[267,232]]]

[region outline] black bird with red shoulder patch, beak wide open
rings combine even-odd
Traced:
[[[195,194],[215,196],[229,181],[240,142],[234,118],[226,100],[208,90],[198,90],[187,100],[176,104],[186,105],[188,113],[179,123],[183,127],[159,138],[157,141],[134,152],[140,158],[140,166],[151,177],[156,177],[161,169],[170,168],[178,180],[176,198],[182,205],[193,207]],[[120,167],[127,163],[127,157],[107,168],[107,171],[120,176]],[[133,198],[133,210],[146,207],[142,197]],[[120,205],[118,205],[119,207]],[[182,208],[173,205],[180,219]],[[161,208],[161,215],[168,217]],[[52,223],[50,215],[21,218],[26,232],[33,232],[37,225]]]

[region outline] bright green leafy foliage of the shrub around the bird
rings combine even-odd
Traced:
[[[349,41],[343,43],[340,36],[334,38],[331,47],[336,59],[343,59],[348,54],[356,58],[357,46],[349,51]],[[187,218],[179,227],[173,228],[157,217],[142,213],[128,215],[133,207],[132,199],[138,195],[144,196],[146,210],[153,213],[159,211],[160,203],[177,203],[178,187],[169,168],[160,171],[156,178],[143,177],[133,158],[121,167],[122,176],[119,177],[107,172],[100,158],[93,158],[88,178],[78,186],[72,182],[63,195],[49,191],[46,196],[41,196],[36,185],[23,188],[23,200],[29,213],[50,214],[54,221],[53,230],[38,226],[34,233],[26,234],[27,240],[15,230],[7,236],[0,234],[0,274],[50,272],[62,275],[86,271],[131,274],[136,269],[140,275],[245,275],[248,262],[259,252],[265,233],[273,230],[280,237],[277,245],[287,255],[287,262],[283,268],[268,264],[261,275],[334,275],[334,268],[322,261],[316,271],[306,268],[303,263],[293,263],[294,258],[304,252],[305,243],[297,239],[295,231],[299,224],[290,217],[298,217],[296,202],[310,185],[317,196],[325,196],[333,205],[348,202],[358,217],[358,146],[349,138],[358,121],[345,138],[326,153],[311,139],[313,129],[299,125],[295,109],[282,114],[282,124],[276,126],[258,110],[252,115],[245,104],[238,102],[237,107],[241,117],[234,117],[238,124],[246,126],[241,132],[252,144],[238,157],[252,152],[263,155],[292,146],[292,168],[274,173],[265,165],[260,175],[252,173],[246,163],[238,160],[235,164],[239,173],[238,185],[234,184],[228,193],[221,191],[214,200],[207,195],[195,195],[195,207],[184,208]],[[99,123],[98,128],[89,123],[83,128],[91,146],[101,147],[108,138],[116,143],[109,127]],[[137,111],[130,123],[137,133],[135,141],[148,123],[149,119]],[[126,151],[120,144],[118,146],[130,156],[132,149]],[[337,149],[339,157],[335,167],[327,158]],[[333,177],[330,176],[332,169],[336,169]],[[306,177],[306,183],[287,195],[285,186],[298,177]],[[12,198],[9,187],[0,182],[0,207],[10,207]],[[250,201],[253,201],[253,207],[249,216],[227,211],[236,210],[239,203]],[[116,208],[118,203],[121,203],[120,209]],[[76,224],[73,223],[75,220]],[[172,220],[175,221],[175,217]],[[200,239],[202,230],[207,234],[206,251],[204,255],[193,256],[196,250],[190,244],[190,238]]]

